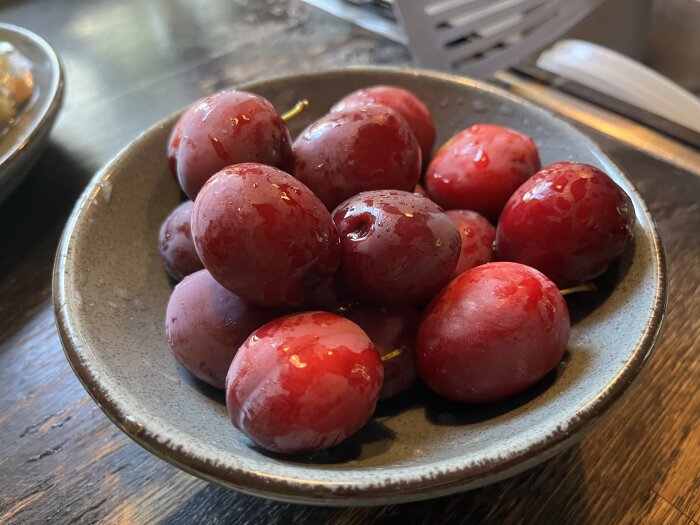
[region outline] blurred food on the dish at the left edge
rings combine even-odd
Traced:
[[[32,65],[9,42],[0,42],[0,131],[8,126],[34,92]]]

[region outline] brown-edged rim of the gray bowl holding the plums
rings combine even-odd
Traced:
[[[459,83],[479,91],[489,92],[516,104],[524,105],[529,110],[544,113],[548,117],[563,122],[566,126],[573,128],[564,117],[556,115],[498,87],[466,77],[416,68],[351,66],[247,82],[236,85],[235,88],[254,91],[267,84],[275,84],[282,80],[294,82],[301,79],[318,78],[319,75],[342,77],[348,74],[348,72],[352,74],[365,73],[368,75],[387,73],[414,77],[430,77],[435,80]],[[144,427],[142,425],[134,424],[133,420],[127,414],[120,412],[119,407],[111,400],[109,392],[100,384],[99,377],[95,377],[95,375],[90,372],[89,367],[86,366],[86,362],[80,351],[80,334],[79,331],[75,330],[72,323],[73,316],[70,309],[67,308],[68,299],[65,288],[65,274],[67,272],[66,261],[71,250],[70,241],[75,233],[83,210],[89,205],[91,198],[102,184],[103,178],[110,174],[120,159],[127,154],[134,144],[142,141],[151,134],[160,132],[163,127],[170,125],[181,112],[182,110],[173,113],[138,135],[93,176],[78,199],[66,223],[56,253],[52,282],[54,313],[60,340],[68,362],[84,388],[98,406],[100,406],[103,412],[123,432],[149,452],[176,467],[197,477],[208,481],[214,481],[241,492],[264,496],[278,501],[295,503],[372,505],[386,504],[389,502],[416,501],[452,494],[464,490],[465,488],[476,488],[476,486],[486,484],[479,483],[479,481],[486,476],[494,478],[493,481],[495,481],[496,478],[505,478],[510,474],[522,470],[524,464],[528,464],[528,462],[531,465],[539,463],[541,460],[554,455],[557,451],[562,450],[575,440],[580,439],[583,434],[593,426],[593,423],[610,408],[613,403],[621,398],[650,358],[663,325],[668,298],[666,257],[658,227],[646,203],[641,198],[632,182],[624,175],[624,172],[620,170],[591,138],[584,132],[576,129],[581,135],[582,140],[586,141],[586,147],[593,151],[602,161],[609,163],[615,168],[617,174],[628,184],[634,194],[634,199],[636,200],[635,204],[641,209],[645,219],[649,223],[650,249],[653,250],[658,273],[655,276],[656,290],[650,321],[643,335],[640,337],[631,357],[606,388],[598,392],[594,399],[576,413],[569,416],[565,424],[558,427],[555,432],[539,438],[530,443],[527,447],[516,450],[507,458],[493,459],[478,465],[469,465],[467,461],[456,462],[452,468],[441,471],[439,475],[434,477],[416,476],[409,479],[392,479],[388,476],[389,479],[382,485],[369,482],[366,484],[351,482],[331,483],[324,481],[308,482],[303,479],[282,478],[263,472],[250,472],[246,469],[231,469],[211,462],[206,458],[190,455],[186,451],[171,446],[169,442],[164,443],[159,441],[153,434],[144,432]],[[490,481],[491,480],[488,482]],[[468,487],[470,485],[471,487]],[[313,489],[313,491],[310,489]]]

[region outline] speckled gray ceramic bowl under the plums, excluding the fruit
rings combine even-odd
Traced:
[[[165,144],[176,116],[139,136],[93,178],[63,234],[54,276],[56,318],[68,360],[105,413],[161,458],[247,493],[316,504],[426,499],[491,483],[552,457],[579,439],[648,359],[666,300],[664,257],[638,193],[588,138],[532,104],[465,78],[416,70],[344,69],[240,86],[288,108],[311,107],[293,134],[349,91],[404,86],[423,98],[438,144],[478,121],[533,136],[543,164],[599,166],[632,197],[634,246],[576,299],[568,354],[555,374],[506,403],[457,406],[413,392],[344,445],[312,457],[266,454],[229,423],[221,398],[193,384],[164,340],[171,285],[156,236],[179,200]],[[607,284],[606,284],[607,283]]]

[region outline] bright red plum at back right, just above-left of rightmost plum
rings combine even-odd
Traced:
[[[428,166],[425,186],[446,210],[472,210],[498,219],[513,192],[540,169],[530,137],[495,124],[477,124],[452,137]]]

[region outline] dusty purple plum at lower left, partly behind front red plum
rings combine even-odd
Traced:
[[[238,347],[275,316],[271,310],[246,303],[200,270],[173,290],[165,335],[175,359],[188,372],[223,389]]]

